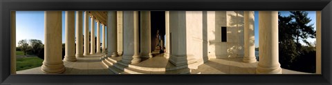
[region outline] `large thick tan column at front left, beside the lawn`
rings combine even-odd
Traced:
[[[63,73],[62,62],[62,12],[45,11],[45,53],[42,71],[44,73]]]

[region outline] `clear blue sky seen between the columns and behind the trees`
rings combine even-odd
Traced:
[[[290,15],[288,11],[279,11],[282,16]],[[259,30],[258,30],[258,11],[255,11],[255,47],[258,47],[259,42]],[[84,16],[84,14],[83,14]],[[62,12],[62,43],[64,43],[64,11]],[[308,11],[308,17],[313,23],[315,28],[316,15],[315,11]],[[90,22],[89,18],[89,22]],[[83,23],[84,25],[84,23]],[[89,26],[90,29],[91,26]],[[18,43],[21,39],[39,39],[42,40],[44,44],[44,11],[17,11],[16,12],[16,42]],[[95,28],[97,28],[97,23],[95,23]],[[107,28],[107,27],[105,27]],[[316,29],[316,28],[315,28]],[[95,35],[97,35],[95,29]],[[107,30],[105,30],[107,31]],[[102,42],[102,26],[100,24],[100,42]],[[105,35],[106,36],[106,35]],[[106,38],[107,39],[107,38]],[[308,39],[309,42],[315,41],[315,39]],[[303,43],[303,42],[302,42]]]

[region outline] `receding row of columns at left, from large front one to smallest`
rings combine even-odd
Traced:
[[[89,55],[89,12],[84,12],[84,43],[82,31],[82,11],[66,11],[65,12],[65,55],[64,61],[75,62],[76,57],[84,57]],[[45,58],[42,65],[44,73],[62,73],[64,72],[64,64],[62,62],[62,12],[61,11],[45,11]],[[95,55],[95,38],[94,38],[94,17],[91,16],[91,50],[90,55]],[[76,23],[75,23],[76,21]],[[76,25],[76,28],[75,26]],[[97,53],[100,53],[100,25],[97,21]],[[105,27],[102,24],[103,42],[102,52],[105,52]],[[75,30],[76,29],[76,30]],[[75,54],[75,31],[76,31],[76,54]],[[83,53],[84,45],[84,53]]]

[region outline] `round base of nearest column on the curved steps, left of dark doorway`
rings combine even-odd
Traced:
[[[125,63],[125,64],[137,64],[140,62],[140,55],[123,55],[122,56],[122,60],[121,62]]]

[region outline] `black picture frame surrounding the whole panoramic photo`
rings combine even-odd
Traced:
[[[1,84],[331,84],[331,0],[1,0]],[[10,75],[11,10],[322,10],[322,75]]]

